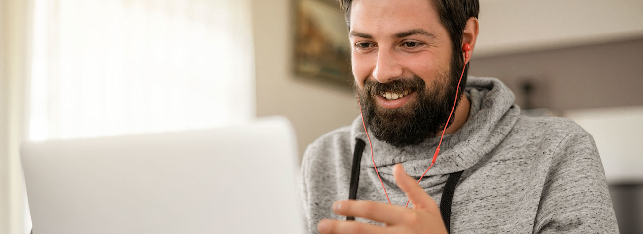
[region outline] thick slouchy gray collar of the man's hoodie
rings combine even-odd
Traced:
[[[471,102],[469,118],[458,131],[444,135],[435,165],[426,176],[449,174],[472,167],[502,142],[520,115],[520,109],[514,104],[514,94],[499,79],[468,76],[465,94]],[[355,138],[367,142],[364,153],[369,155],[370,162],[370,147],[361,117],[352,122],[350,133],[351,149],[355,147]],[[410,176],[419,177],[431,165],[440,136],[405,147],[395,147],[372,136],[370,140],[378,170],[381,166],[403,163]],[[372,167],[372,163],[368,165]]]

